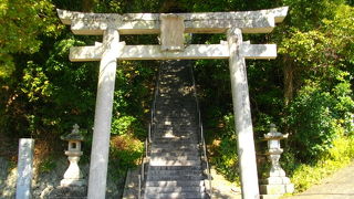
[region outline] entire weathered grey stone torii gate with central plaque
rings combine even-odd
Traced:
[[[275,59],[275,44],[250,44],[242,33],[269,33],[282,22],[287,7],[246,12],[83,13],[58,10],[74,34],[103,35],[93,46],[70,50],[73,62],[100,61],[91,153],[88,199],[105,198],[113,93],[117,60],[229,59],[238,135],[242,197],[259,198],[259,185],[244,59]],[[189,44],[184,33],[226,33],[220,44]],[[160,34],[160,45],[126,45],[121,34]]]

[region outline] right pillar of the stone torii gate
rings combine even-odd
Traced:
[[[251,107],[249,100],[246,62],[242,56],[242,31],[231,28],[227,32],[229,44],[229,67],[235,114],[236,133],[238,136],[238,156],[241,171],[243,199],[259,199],[256,149]]]

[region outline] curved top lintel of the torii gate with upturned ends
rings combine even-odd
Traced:
[[[282,22],[288,7],[241,12],[174,13],[184,18],[186,33],[225,33],[239,28],[242,33],[269,33],[275,23]],[[64,24],[70,24],[74,34],[101,35],[107,28],[119,34],[158,34],[160,13],[84,13],[58,10]]]

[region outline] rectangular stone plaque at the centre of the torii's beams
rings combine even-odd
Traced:
[[[184,51],[185,18],[177,14],[160,14],[162,51]]]

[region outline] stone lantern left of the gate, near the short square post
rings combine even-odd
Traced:
[[[80,134],[79,128],[79,125],[75,124],[71,134],[61,137],[63,140],[67,140],[67,150],[65,150],[65,155],[70,161],[69,168],[64,174],[64,179],[60,181],[60,185],[63,187],[85,185],[77,165],[80,156],[83,154],[81,151],[81,142],[84,139]]]

